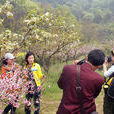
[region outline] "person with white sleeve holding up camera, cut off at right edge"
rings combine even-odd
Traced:
[[[107,69],[107,63],[111,63],[111,67]],[[114,81],[114,51],[111,51],[111,57],[105,60],[103,65],[104,70],[104,77],[106,83],[104,85],[104,104],[103,104],[103,111],[104,114],[114,114],[114,99],[112,97],[112,92],[114,92],[114,86],[112,82]],[[110,94],[111,93],[111,94]]]

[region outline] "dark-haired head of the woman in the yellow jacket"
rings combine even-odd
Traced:
[[[25,56],[26,65],[31,65],[34,63],[35,56],[32,52],[28,52]]]

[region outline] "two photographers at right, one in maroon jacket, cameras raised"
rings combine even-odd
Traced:
[[[102,50],[95,49],[89,52],[83,61],[65,65],[58,80],[58,86],[63,90],[63,96],[57,114],[98,114],[95,98],[99,95],[102,86],[106,88],[104,96],[104,114],[114,114],[114,51],[111,51],[111,67],[107,69],[107,57]],[[103,67],[104,77],[95,72]],[[113,83],[112,83],[113,82]],[[112,87],[109,91],[109,88]],[[104,88],[105,89],[105,88]]]

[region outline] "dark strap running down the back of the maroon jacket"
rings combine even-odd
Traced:
[[[76,67],[76,92],[80,102],[81,114],[84,114],[82,87],[80,85],[80,65]]]

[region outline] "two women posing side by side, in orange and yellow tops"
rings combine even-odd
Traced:
[[[19,78],[26,79],[28,82],[27,93],[26,93],[26,101],[28,103],[25,104],[25,113],[31,114],[31,99],[33,98],[35,111],[34,114],[39,114],[40,110],[40,94],[41,89],[41,80],[46,78],[45,75],[42,74],[40,65],[35,63],[35,56],[32,52],[28,52],[25,56],[25,66],[20,68],[19,65],[15,63],[15,57],[12,53],[6,53],[5,58],[3,60],[3,66],[1,68],[1,80],[5,77],[8,79],[13,77],[16,70],[21,71],[21,76]],[[16,107],[9,102],[9,104],[5,107],[3,114],[7,114],[11,111],[11,114],[14,114],[16,111]]]

